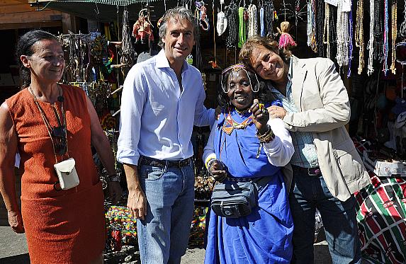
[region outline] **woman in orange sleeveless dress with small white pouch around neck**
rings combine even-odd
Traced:
[[[16,233],[26,232],[31,263],[103,263],[103,190],[96,148],[120,197],[110,144],[80,88],[57,84],[64,52],[55,35],[32,30],[18,41],[22,90],[0,106],[0,191]],[[21,156],[21,211],[13,163]],[[74,159],[79,185],[62,190],[55,163]],[[69,176],[69,174],[67,175]]]

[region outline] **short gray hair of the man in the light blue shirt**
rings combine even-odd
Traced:
[[[184,6],[177,6],[175,8],[171,8],[164,14],[162,17],[161,26],[159,27],[159,42],[158,45],[162,48],[165,47],[164,42],[162,42],[162,38],[165,38],[167,35],[167,27],[168,22],[171,19],[176,20],[187,20],[193,25],[193,38],[196,40],[199,37],[199,27],[196,23],[196,18],[194,18],[192,11]]]

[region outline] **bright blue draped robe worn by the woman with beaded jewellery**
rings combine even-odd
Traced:
[[[231,115],[236,122],[249,116],[241,117],[235,110]],[[281,168],[269,163],[263,149],[256,158],[259,140],[254,124],[228,135],[221,129],[224,118],[222,114],[213,127],[217,158],[235,178],[268,176],[269,183],[260,190],[259,205],[247,217],[218,217],[210,210],[205,264],[290,263],[293,220]]]

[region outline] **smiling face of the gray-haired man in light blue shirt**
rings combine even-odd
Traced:
[[[181,67],[195,45],[192,23],[186,19],[169,19],[167,33],[162,42],[165,44],[165,55],[169,65]]]

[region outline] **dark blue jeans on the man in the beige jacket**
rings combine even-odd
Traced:
[[[332,263],[361,263],[354,196],[342,202],[329,192],[321,175],[309,176],[293,168],[289,202],[295,226],[292,263],[314,261],[316,208],[322,216]]]

